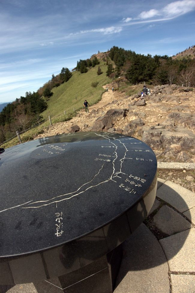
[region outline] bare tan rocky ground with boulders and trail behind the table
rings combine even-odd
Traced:
[[[158,161],[195,163],[194,91],[177,85],[153,87],[146,101],[141,101],[135,94],[113,93],[115,85],[104,85],[108,92],[98,104],[89,107],[89,114],[82,109],[70,121],[50,126],[38,137],[78,130],[111,131],[146,142]],[[142,87],[132,86],[131,90],[138,93]]]

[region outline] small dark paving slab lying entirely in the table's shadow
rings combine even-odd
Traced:
[[[191,228],[191,224],[169,206],[162,206],[153,218],[155,226],[167,235]]]

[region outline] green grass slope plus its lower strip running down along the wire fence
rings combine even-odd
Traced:
[[[38,127],[21,134],[22,142],[32,140],[34,136],[44,132],[44,128],[49,125],[48,116],[52,118],[52,123],[58,121],[65,121],[70,119],[76,110],[83,107],[83,102],[86,99],[89,105],[95,104],[101,99],[101,95],[104,92],[103,85],[110,83],[110,78],[106,76],[107,65],[101,61],[99,64],[101,75],[97,75],[98,65],[88,70],[86,73],[80,73],[78,71],[73,72],[69,81],[61,84],[59,87],[52,89],[53,95],[47,101],[48,108],[41,113],[46,121]],[[92,87],[92,82],[98,82],[97,87]],[[73,108],[75,112],[73,112]],[[66,111],[66,116],[64,115]],[[5,142],[1,147],[9,148],[18,144],[19,141],[16,138]]]

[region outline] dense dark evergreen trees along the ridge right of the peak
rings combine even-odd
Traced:
[[[188,71],[195,68],[195,60],[193,59],[172,59],[167,55],[160,56],[148,54],[136,54],[134,51],[125,50],[119,47],[110,49],[109,57],[116,64],[116,77],[123,71],[126,78],[131,84],[139,82],[147,82],[149,84],[172,84],[182,83],[195,85],[192,77],[187,79]],[[113,72],[113,68],[108,63],[107,76]],[[195,73],[195,72],[194,72]],[[187,80],[187,81],[186,81]]]

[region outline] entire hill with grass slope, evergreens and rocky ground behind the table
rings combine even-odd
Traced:
[[[36,93],[27,92],[8,105],[0,113],[0,142],[44,118],[44,126],[25,133],[22,141],[37,134],[111,131],[143,140],[158,161],[193,163],[194,91],[189,86],[195,86],[194,62],[189,58],[174,61],[167,55],[144,56],[115,46],[98,52],[79,60],[73,72],[63,67]],[[152,91],[141,101],[138,93],[143,81]],[[91,105],[89,115],[82,109],[85,99]],[[48,116],[54,126],[47,128]]]

